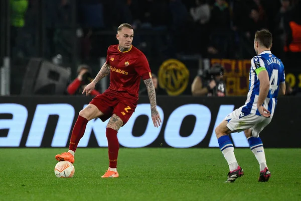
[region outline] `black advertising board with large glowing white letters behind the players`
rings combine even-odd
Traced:
[[[77,115],[88,97],[1,97],[0,147],[66,147]],[[218,147],[214,128],[245,97],[158,97],[163,125],[150,119],[148,97],[140,97],[130,121],[118,132],[124,147]],[[260,134],[265,147],[301,147],[301,99],[280,97],[270,125]],[[79,147],[106,147],[106,123],[88,123]],[[236,147],[248,147],[243,133],[232,134]]]

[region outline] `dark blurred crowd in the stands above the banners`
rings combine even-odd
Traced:
[[[254,54],[255,31],[267,28],[274,37],[273,52],[281,58],[300,39],[292,30],[301,33],[299,0],[52,0],[42,5],[41,1],[11,0],[14,55],[34,56],[31,47],[41,7],[48,57],[71,54],[72,29],[81,59],[103,56],[107,45],[116,43],[117,26],[125,22],[135,28],[134,45],[148,57],[249,58]]]

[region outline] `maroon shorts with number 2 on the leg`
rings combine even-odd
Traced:
[[[123,125],[126,124],[136,108],[136,105],[126,104],[124,101],[120,101],[116,96],[107,92],[95,96],[90,104],[96,106],[98,110],[104,114],[99,117],[101,121],[105,122],[115,114],[122,120]]]

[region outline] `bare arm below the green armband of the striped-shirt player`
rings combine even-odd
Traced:
[[[260,81],[260,85],[259,85],[259,95],[257,100],[257,109],[263,117],[269,117],[271,115],[270,111],[266,110],[262,106],[270,87],[267,71],[266,70],[260,71],[258,73],[258,78]]]

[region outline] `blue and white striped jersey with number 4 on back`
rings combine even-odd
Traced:
[[[263,107],[270,111],[270,118],[272,118],[277,105],[279,83],[285,82],[285,74],[281,60],[275,57],[270,51],[263,51],[251,60],[248,98],[242,108],[242,113],[244,115],[252,113],[261,116],[257,110],[260,81],[255,70],[262,67],[267,70],[270,80],[269,92],[265,98]]]

